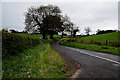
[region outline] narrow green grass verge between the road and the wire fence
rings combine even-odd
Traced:
[[[103,45],[99,46],[95,44],[83,44],[83,43],[67,42],[67,41],[61,41],[60,44],[74,48],[88,49],[93,51],[107,52],[115,55],[120,55],[119,53],[120,47],[103,46]]]

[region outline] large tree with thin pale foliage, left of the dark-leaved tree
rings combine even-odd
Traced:
[[[48,31],[50,31],[49,33],[52,34],[52,32],[57,31],[58,29],[58,28],[54,28],[54,31],[51,31],[53,30],[53,28],[48,26],[53,25],[54,22],[52,22],[52,24],[49,25],[48,24],[46,25],[46,23],[55,21],[53,20],[53,16],[56,17],[60,16],[60,13],[61,10],[59,9],[59,7],[53,5],[40,6],[38,8],[31,7],[28,9],[28,12],[26,12],[25,14],[25,25],[26,25],[25,30],[28,32],[33,32],[34,30],[37,30],[43,35],[43,39],[46,39],[47,38],[46,35]]]

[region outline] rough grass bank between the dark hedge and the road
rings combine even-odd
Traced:
[[[67,78],[73,74],[69,63],[49,43],[41,43],[17,56],[3,57],[3,78]]]

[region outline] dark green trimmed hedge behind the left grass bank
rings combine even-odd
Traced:
[[[38,38],[2,32],[2,55],[16,55],[40,43]]]

